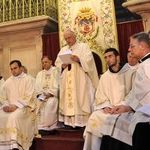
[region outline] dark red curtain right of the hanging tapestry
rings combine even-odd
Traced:
[[[130,36],[134,33],[144,31],[142,20],[118,23],[117,30],[121,61],[126,62]]]

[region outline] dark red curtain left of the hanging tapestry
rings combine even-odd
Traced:
[[[43,56],[44,55],[50,56],[54,64],[57,54],[60,50],[59,34],[58,32],[43,34],[42,40],[43,40]]]

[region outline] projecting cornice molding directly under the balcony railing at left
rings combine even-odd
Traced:
[[[28,29],[36,30],[38,28],[43,28],[43,32],[45,32],[45,28],[49,28],[51,29],[51,32],[55,32],[58,29],[57,21],[53,20],[49,16],[43,15],[9,22],[3,22],[0,23],[0,34],[8,34],[8,32],[22,32]]]

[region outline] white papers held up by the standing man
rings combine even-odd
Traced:
[[[61,59],[63,64],[71,64],[72,51],[66,50],[63,54],[59,54],[59,58]]]

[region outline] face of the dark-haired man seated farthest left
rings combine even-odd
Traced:
[[[21,67],[18,66],[17,63],[13,63],[10,65],[10,70],[13,76],[18,76],[22,73]]]

